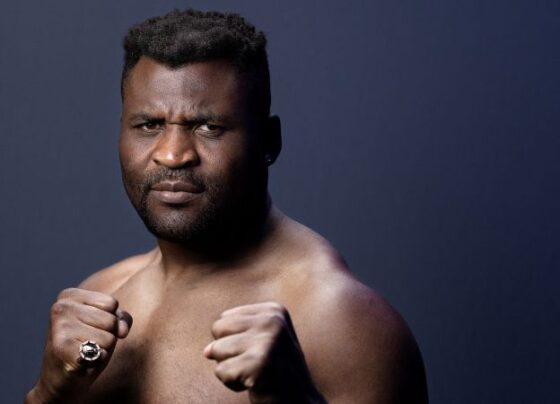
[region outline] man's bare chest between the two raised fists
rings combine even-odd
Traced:
[[[216,363],[203,350],[222,311],[274,296],[256,290],[216,293],[192,293],[157,305],[120,299],[123,307],[131,307],[134,323],[92,387],[91,402],[248,403],[247,393],[233,392],[216,378]]]

